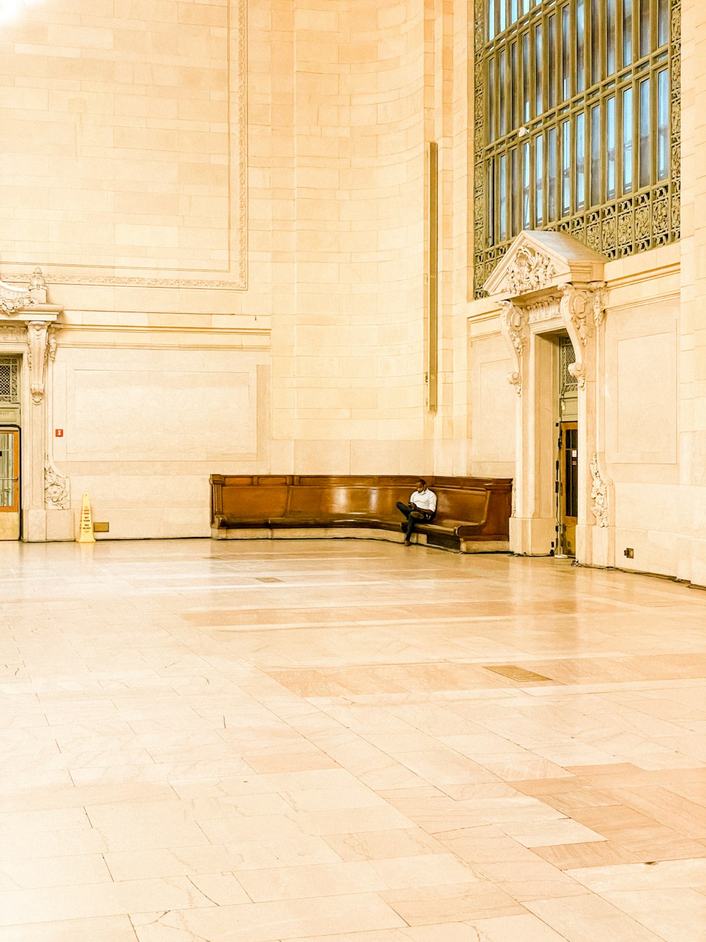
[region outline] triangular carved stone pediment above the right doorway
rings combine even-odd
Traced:
[[[570,235],[525,231],[505,252],[484,288],[491,297],[509,300],[566,282],[601,281],[605,262]]]

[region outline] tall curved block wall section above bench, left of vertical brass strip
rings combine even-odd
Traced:
[[[430,470],[425,4],[255,6],[278,113],[273,468]]]

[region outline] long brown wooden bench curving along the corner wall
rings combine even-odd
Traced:
[[[401,542],[417,479],[393,476],[212,475],[211,535],[223,539],[365,537]],[[417,543],[463,553],[509,549],[512,479],[429,478],[432,523]]]

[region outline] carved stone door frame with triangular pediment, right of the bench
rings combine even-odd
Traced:
[[[576,558],[615,563],[612,481],[604,459],[603,322],[605,259],[570,235],[522,232],[485,284],[501,309],[518,394],[510,547],[546,555],[555,540],[554,383],[548,337],[570,336],[578,385]]]

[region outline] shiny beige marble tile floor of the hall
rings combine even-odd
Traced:
[[[0,942],[706,940],[706,593],[0,544]]]

